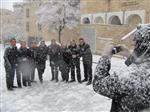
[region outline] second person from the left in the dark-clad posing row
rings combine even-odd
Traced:
[[[22,82],[24,86],[31,86],[31,60],[33,54],[30,49],[27,48],[26,42],[21,42],[21,47],[19,48],[19,68],[22,74]]]

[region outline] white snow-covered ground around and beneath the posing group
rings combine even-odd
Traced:
[[[85,83],[79,84],[61,82],[51,82],[51,71],[47,61],[44,73],[44,83],[40,84],[37,77],[37,83],[31,87],[23,87],[14,91],[7,91],[5,83],[5,70],[3,67],[3,49],[1,49],[1,112],[60,112],[60,111],[99,111],[109,112],[111,99],[95,93],[92,85],[86,86]],[[97,62],[100,56],[94,56],[94,62]],[[124,61],[118,58],[112,60],[112,70],[124,67]],[[96,63],[93,64],[93,73]],[[83,67],[81,64],[81,73],[83,79]],[[16,85],[16,79],[15,79]]]

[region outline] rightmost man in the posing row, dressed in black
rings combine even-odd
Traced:
[[[84,80],[88,81],[87,85],[92,83],[92,52],[90,45],[85,43],[83,38],[79,39],[80,56],[83,58]]]

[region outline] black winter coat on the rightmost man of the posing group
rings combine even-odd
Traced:
[[[83,45],[79,45],[80,48],[80,56],[83,57],[83,62],[92,64],[92,52],[90,49],[90,45],[84,43]]]

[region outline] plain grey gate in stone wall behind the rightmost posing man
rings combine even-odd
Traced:
[[[91,51],[95,53],[95,50],[96,50],[95,29],[94,28],[82,28],[81,36],[84,37],[86,43],[90,45]]]

